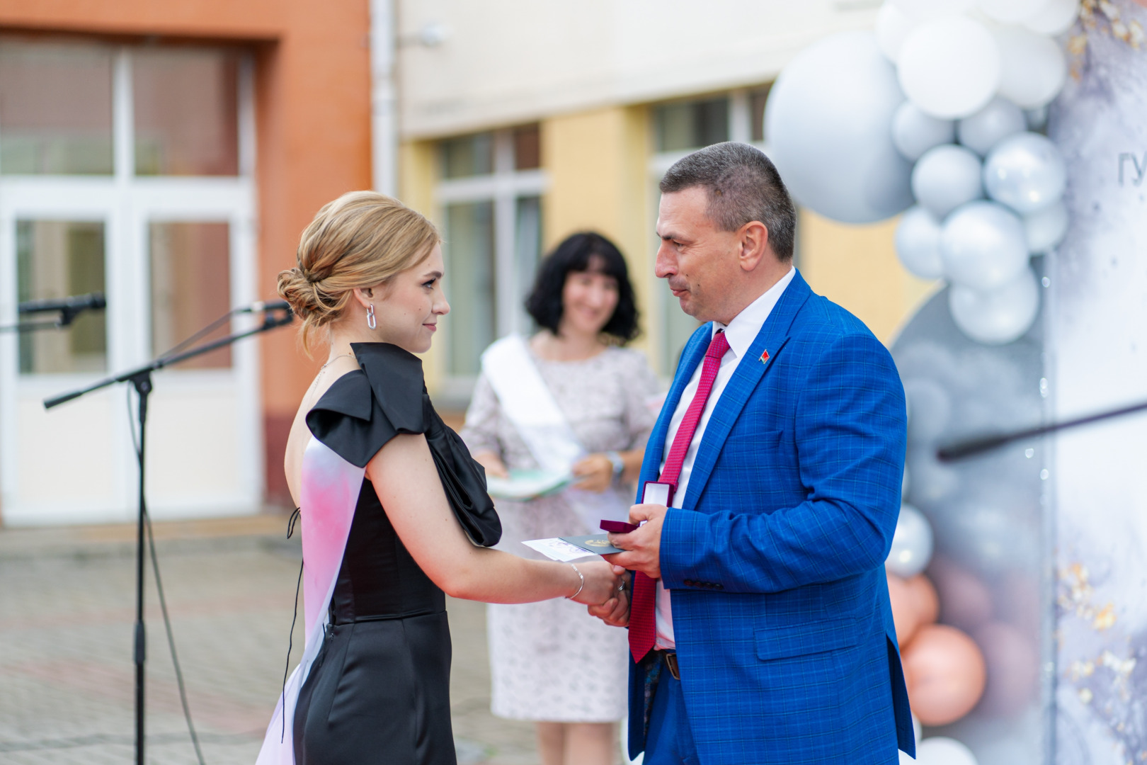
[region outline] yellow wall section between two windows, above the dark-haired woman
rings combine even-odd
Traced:
[[[565,236],[593,229],[621,248],[642,311],[634,348],[649,351],[653,256],[646,165],[648,109],[615,107],[551,117],[541,123],[541,166],[549,177],[543,197],[543,240],[548,251]]]

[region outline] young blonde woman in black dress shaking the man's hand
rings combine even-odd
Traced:
[[[306,645],[259,763],[453,765],[445,594],[612,608],[600,561],[489,549],[501,525],[482,468],[443,424],[414,353],[450,311],[439,236],[370,192],[327,204],[279,292],[327,361],[303,397],[286,471],[301,507]]]

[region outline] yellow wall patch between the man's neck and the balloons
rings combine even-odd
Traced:
[[[801,210],[797,228],[798,265],[809,286],[868,325],[885,345],[936,287],[896,259],[898,220],[852,226]]]

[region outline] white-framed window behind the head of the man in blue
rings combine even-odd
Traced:
[[[657,184],[669,167],[690,151],[721,141],[741,141],[759,149],[765,148],[765,100],[772,84],[702,97],[670,101],[653,107],[653,147],[649,158],[649,188],[653,195],[654,220],[656,201],[661,193]],[[655,225],[650,225],[653,231]],[[660,242],[654,239],[653,247]],[[654,291],[655,311],[661,314],[658,353],[662,375],[672,376],[677,359],[697,322],[684,313],[666,288]]]

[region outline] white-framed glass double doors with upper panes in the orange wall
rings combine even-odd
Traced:
[[[242,48],[0,36],[0,325],[24,300],[99,291],[108,302],[67,330],[0,337],[6,521],[102,521],[130,506],[122,399],[79,399],[63,414],[36,404],[253,299],[253,136]],[[258,508],[257,366],[248,343],[156,377],[157,516]],[[69,450],[88,481],[33,478]]]

